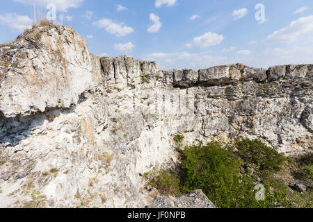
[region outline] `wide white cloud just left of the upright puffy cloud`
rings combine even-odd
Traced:
[[[134,28],[126,26],[124,23],[113,22],[111,19],[101,19],[94,22],[93,25],[99,28],[106,28],[106,32],[117,35],[118,37],[134,32]]]

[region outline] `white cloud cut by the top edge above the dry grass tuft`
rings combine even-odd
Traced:
[[[54,3],[57,10],[66,12],[68,8],[77,8],[81,6],[83,0],[13,0],[27,5],[47,6],[49,3]]]

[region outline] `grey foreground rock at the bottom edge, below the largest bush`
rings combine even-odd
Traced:
[[[157,196],[148,208],[216,208],[201,189],[177,198]]]

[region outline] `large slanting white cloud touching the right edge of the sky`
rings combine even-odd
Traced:
[[[287,27],[268,35],[266,41],[295,42],[298,37],[309,33],[313,34],[313,15],[291,22]]]

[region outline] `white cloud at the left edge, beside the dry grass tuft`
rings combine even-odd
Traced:
[[[22,32],[25,28],[31,28],[33,19],[26,15],[7,13],[0,15],[0,23],[10,27],[13,32]]]

